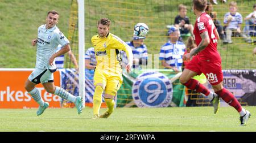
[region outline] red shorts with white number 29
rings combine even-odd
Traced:
[[[199,59],[198,56],[195,56],[185,66],[185,68],[196,72],[197,75],[201,75],[201,73],[203,72],[211,85],[220,84],[223,80],[223,73],[221,70],[221,59],[207,61]]]

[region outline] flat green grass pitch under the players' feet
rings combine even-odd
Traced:
[[[247,126],[241,127],[233,107],[221,107],[216,115],[213,107],[117,108],[108,119],[92,118],[92,108],[78,115],[76,109],[46,109],[36,116],[37,109],[0,109],[0,131],[256,131],[256,107]],[[106,109],[101,109],[101,113]]]

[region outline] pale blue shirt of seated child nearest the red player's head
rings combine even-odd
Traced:
[[[226,13],[224,16],[224,24],[228,23],[228,16],[231,15],[232,16],[232,20],[230,21],[229,25],[228,25],[228,29],[237,29],[238,28],[238,24],[242,24],[243,22],[243,18],[242,15],[238,12],[236,12],[235,15],[230,14],[230,12]]]

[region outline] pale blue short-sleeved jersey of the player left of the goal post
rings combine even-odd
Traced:
[[[56,25],[50,29],[46,28],[46,24],[41,25],[38,28],[36,68],[56,68],[55,61],[53,61],[53,66],[49,65],[49,58],[55,54],[56,48],[59,44],[63,47],[68,45],[69,41],[64,34],[60,32]]]

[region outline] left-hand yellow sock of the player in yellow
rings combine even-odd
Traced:
[[[93,95],[93,115],[100,114],[101,102],[102,102],[103,89],[100,85],[97,85]]]

